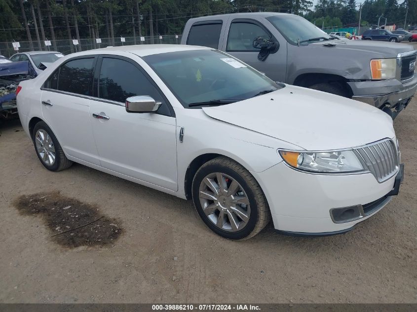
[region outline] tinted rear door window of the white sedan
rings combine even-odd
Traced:
[[[59,69],[58,90],[90,95],[94,58],[65,63]]]

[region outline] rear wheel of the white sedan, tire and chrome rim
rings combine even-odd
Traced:
[[[73,164],[65,156],[51,128],[43,121],[39,121],[35,125],[32,140],[38,158],[46,169],[50,171],[61,171],[71,167]]]

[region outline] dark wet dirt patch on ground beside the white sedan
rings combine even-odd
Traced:
[[[51,231],[51,239],[66,247],[106,245],[122,233],[119,222],[59,192],[23,195],[14,201],[21,214],[38,214]]]

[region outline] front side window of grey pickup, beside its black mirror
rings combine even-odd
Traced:
[[[252,46],[257,36],[270,36],[265,30],[252,23],[235,22],[230,25],[227,38],[227,51],[257,51]]]

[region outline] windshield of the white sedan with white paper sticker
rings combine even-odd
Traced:
[[[206,102],[213,102],[206,105],[237,102],[282,88],[216,50],[161,53],[143,59],[186,108]]]

